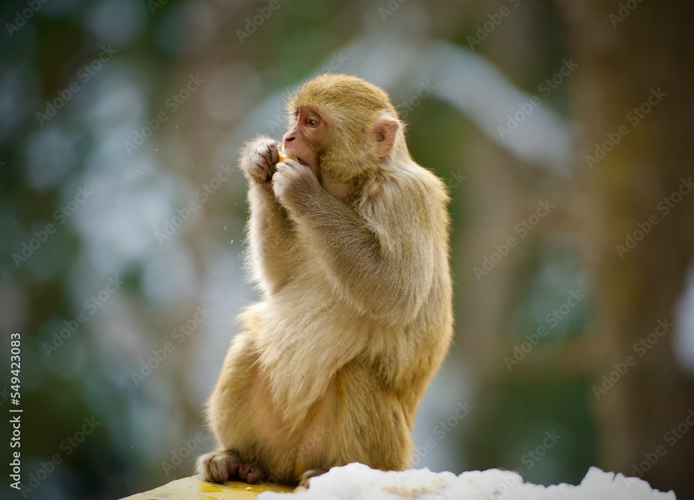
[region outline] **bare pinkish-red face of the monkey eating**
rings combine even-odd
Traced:
[[[294,112],[291,126],[282,138],[282,148],[318,176],[320,151],[327,140],[329,127],[327,117],[318,109],[301,106]]]

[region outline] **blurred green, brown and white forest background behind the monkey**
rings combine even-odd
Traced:
[[[3,2],[2,496],[124,497],[212,448],[203,402],[255,297],[237,151],[279,138],[282,97],[329,70],[391,94],[452,198],[455,345],[413,464],[544,484],[598,465],[694,498],[693,15],[686,0]]]

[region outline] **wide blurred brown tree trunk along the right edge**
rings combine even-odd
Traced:
[[[596,313],[588,361],[595,385],[607,387],[599,398],[589,395],[598,415],[600,465],[627,476],[643,473],[654,487],[694,498],[688,474],[694,428],[679,438],[667,434],[694,408],[694,381],[674,357],[677,325],[653,335],[659,320],[675,323],[694,249],[694,190],[667,215],[659,205],[682,178],[693,176],[694,6],[688,0],[565,0],[561,7],[568,54],[579,64],[575,115],[586,126],[577,166],[588,207],[584,240]],[[638,117],[633,109],[649,98],[650,113],[643,105]],[[627,134],[617,142],[620,130]],[[585,155],[596,157],[595,144],[610,141],[611,151],[591,169]],[[657,224],[620,256],[616,245],[627,247],[625,233],[641,239],[637,224],[647,231],[650,217]],[[657,339],[652,348],[634,348],[644,338],[650,345],[649,335]],[[633,366],[612,374],[619,380],[611,388],[603,386],[602,376],[627,356]]]

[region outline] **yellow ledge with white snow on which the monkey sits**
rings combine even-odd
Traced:
[[[121,500],[244,500],[255,499],[260,493],[264,493],[264,500],[677,500],[672,491],[659,492],[646,481],[597,467],[591,467],[578,485],[545,487],[523,481],[517,472],[500,469],[456,475],[426,468],[381,471],[356,462],[312,478],[308,490],[238,481],[217,485],[192,476]]]

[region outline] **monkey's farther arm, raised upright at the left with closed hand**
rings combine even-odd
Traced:
[[[242,149],[239,167],[248,178],[248,247],[253,275],[263,292],[273,294],[291,276],[293,223],[271,188],[271,173],[278,161],[276,142],[257,138]]]

